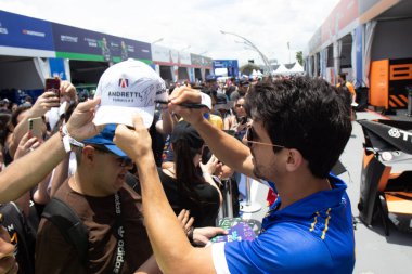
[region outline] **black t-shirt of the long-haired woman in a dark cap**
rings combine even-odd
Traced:
[[[214,186],[208,183],[193,182],[193,188],[201,198],[199,203],[195,203],[178,192],[178,183],[175,178],[165,174],[162,169],[158,169],[158,175],[176,214],[179,214],[182,209],[189,209],[191,217],[194,218],[194,227],[216,225],[219,212],[219,193]]]

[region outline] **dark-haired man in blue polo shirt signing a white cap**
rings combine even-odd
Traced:
[[[145,224],[164,273],[352,272],[350,201],[345,183],[330,174],[351,132],[350,109],[336,88],[306,77],[257,83],[246,96],[253,119],[247,146],[215,129],[199,110],[179,106],[199,103],[198,91],[182,88],[170,99],[169,108],[196,128],[222,162],[275,182],[279,198],[256,239],[193,248],[167,204],[141,118],[134,130],[119,126],[115,143],[138,166]]]

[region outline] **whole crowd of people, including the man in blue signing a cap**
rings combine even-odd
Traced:
[[[202,93],[210,105],[180,106]],[[94,126],[99,99],[79,103],[68,81],[60,97],[0,101],[0,273],[351,273],[350,203],[330,174],[351,131],[344,93],[306,77],[177,82],[147,130]],[[222,181],[241,174],[279,196],[255,240],[210,246],[227,233]]]

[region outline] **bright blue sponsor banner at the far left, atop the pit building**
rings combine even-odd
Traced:
[[[53,51],[51,23],[0,11],[0,45]]]

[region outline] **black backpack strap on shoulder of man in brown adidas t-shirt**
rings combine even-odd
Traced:
[[[89,231],[77,213],[63,200],[52,198],[41,216],[57,226],[65,240],[75,247],[81,263],[86,265]]]

